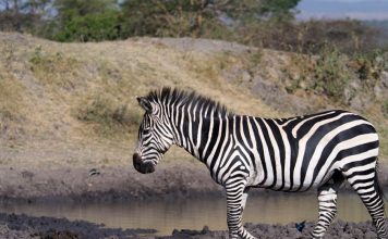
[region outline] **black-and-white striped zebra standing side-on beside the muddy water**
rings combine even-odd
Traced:
[[[377,178],[378,136],[362,116],[342,110],[290,118],[238,115],[195,91],[162,88],[136,97],[145,113],[133,165],[153,173],[172,144],[203,162],[227,194],[229,238],[255,238],[242,225],[251,188],[301,192],[317,189],[322,238],[337,214],[344,180],[387,238],[383,191]]]

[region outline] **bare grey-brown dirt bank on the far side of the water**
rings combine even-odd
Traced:
[[[380,165],[380,180],[388,189],[388,166]],[[0,167],[0,201],[114,202],[129,199],[185,199],[223,197],[204,165],[161,163],[154,174],[126,167],[14,168]],[[315,190],[312,191],[315,193]],[[252,194],[275,193],[251,190]]]

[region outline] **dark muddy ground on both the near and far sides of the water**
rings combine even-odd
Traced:
[[[380,179],[387,189],[387,167],[381,165]],[[123,200],[225,197],[222,188],[213,183],[206,167],[197,164],[159,165],[150,175],[128,167],[23,169],[0,167],[0,199],[2,202],[72,201],[114,202]],[[345,189],[344,189],[345,190]],[[252,190],[254,194],[279,193]],[[313,191],[312,193],[315,193]],[[223,218],[222,218],[223,219]],[[308,238],[313,223],[303,232],[288,225],[247,224],[259,238]],[[153,228],[121,229],[66,218],[35,217],[0,213],[0,238],[156,238]],[[148,235],[148,236],[146,236]],[[174,230],[161,238],[226,238],[227,231]],[[334,224],[326,238],[376,238],[371,222]]]

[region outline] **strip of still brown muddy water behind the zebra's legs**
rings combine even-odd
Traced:
[[[356,194],[340,194],[338,218],[349,222],[369,219]],[[122,202],[99,204],[34,203],[3,204],[4,213],[25,213],[32,216],[66,217],[105,224],[107,227],[155,228],[158,235],[170,235],[177,229],[226,229],[225,199]],[[315,221],[317,201],[313,194],[248,198],[244,222],[288,224]]]

